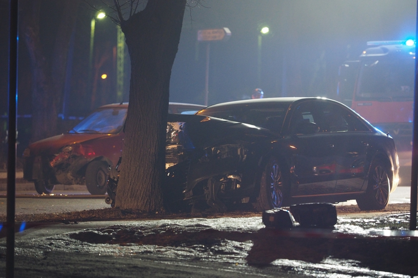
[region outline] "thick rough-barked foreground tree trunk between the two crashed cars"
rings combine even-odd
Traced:
[[[149,0],[122,22],[131,58],[129,109],[115,206],[163,209],[165,141],[171,68],[186,0]]]

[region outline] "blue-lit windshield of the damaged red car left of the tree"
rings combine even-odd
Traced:
[[[119,133],[124,125],[126,112],[126,108],[96,110],[78,123],[69,133]]]

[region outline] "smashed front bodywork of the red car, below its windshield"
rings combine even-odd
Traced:
[[[34,181],[39,194],[50,193],[55,184],[87,185],[88,172],[93,172],[92,179],[100,182],[106,179],[108,165],[115,165],[121,156],[122,136],[123,133],[63,134],[35,142],[24,154],[24,178]],[[101,184],[94,184],[88,189],[91,194],[104,194],[106,186],[104,192],[99,187]]]

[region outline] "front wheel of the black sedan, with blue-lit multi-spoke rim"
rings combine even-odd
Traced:
[[[255,208],[267,210],[281,207],[284,195],[284,176],[280,163],[271,158],[263,171],[260,180],[260,195],[258,195]]]

